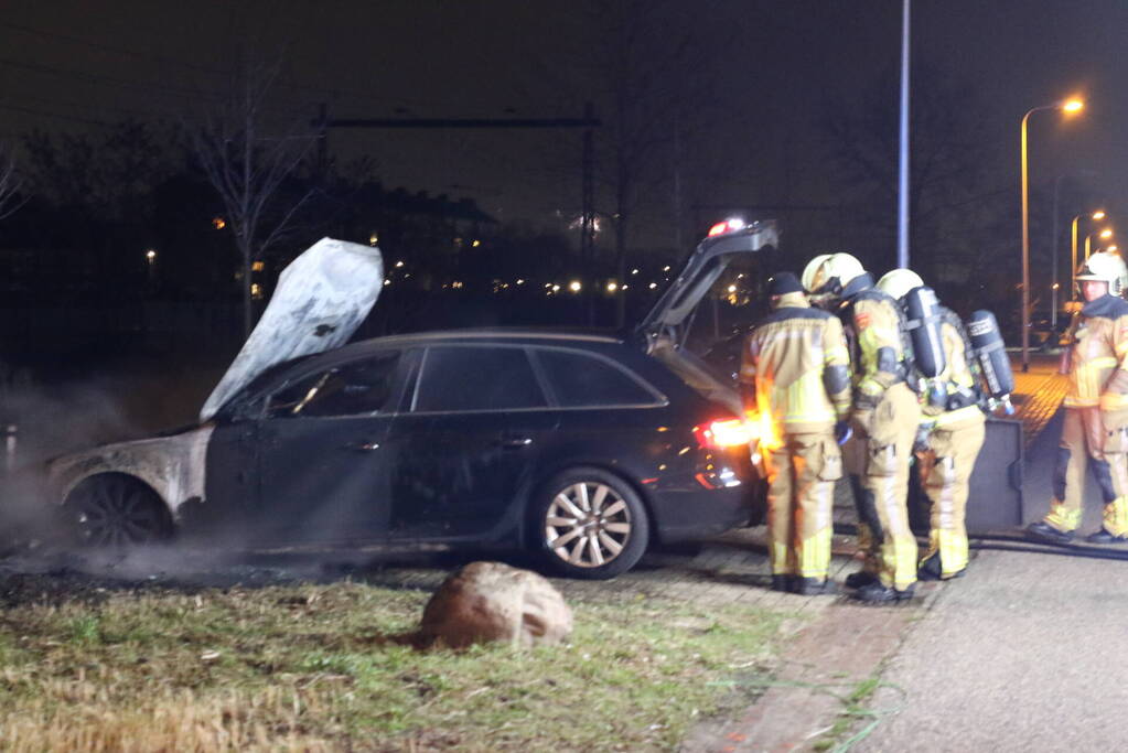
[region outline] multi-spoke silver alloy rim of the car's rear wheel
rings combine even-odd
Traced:
[[[574,567],[602,567],[631,540],[631,508],[614,488],[579,481],[561,489],[545,516],[545,543]]]

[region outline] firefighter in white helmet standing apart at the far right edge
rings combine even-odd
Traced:
[[[1026,532],[1052,543],[1067,543],[1081,525],[1085,467],[1093,469],[1104,521],[1091,543],[1128,541],[1128,271],[1119,256],[1093,254],[1077,273],[1085,300],[1070,328],[1065,426],[1054,470],[1050,512]]]

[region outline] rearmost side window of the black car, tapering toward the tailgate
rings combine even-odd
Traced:
[[[537,361],[564,408],[659,402],[653,392],[615,364],[574,351],[539,349]]]

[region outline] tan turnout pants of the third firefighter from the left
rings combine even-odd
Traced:
[[[968,481],[984,443],[985,426],[982,414],[978,414],[951,427],[934,428],[927,450],[917,454],[920,484],[932,502],[928,551],[920,564],[938,557],[936,574],[942,578],[968,566],[968,531],[963,524]]]

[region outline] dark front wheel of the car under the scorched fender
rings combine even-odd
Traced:
[[[78,543],[85,547],[129,547],[173,535],[165,503],[129,476],[106,473],[86,479],[67,497],[64,510]]]

